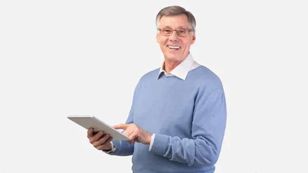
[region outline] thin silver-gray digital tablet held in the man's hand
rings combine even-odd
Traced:
[[[94,132],[103,131],[104,134],[108,133],[110,134],[110,137],[112,137],[112,140],[131,140],[131,138],[126,136],[121,131],[111,127],[107,123],[104,123],[103,121],[99,120],[94,116],[67,116],[67,118],[87,130],[89,128],[93,128]]]

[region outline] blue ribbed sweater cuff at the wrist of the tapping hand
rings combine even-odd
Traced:
[[[157,155],[164,156],[169,145],[169,136],[163,134],[155,134],[155,139],[153,139],[151,152]]]

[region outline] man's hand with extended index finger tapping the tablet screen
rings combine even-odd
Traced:
[[[123,129],[123,133],[131,138],[130,141],[127,141],[129,144],[132,142],[139,142],[145,145],[149,145],[151,143],[152,134],[136,124],[119,124],[112,127],[115,129]]]

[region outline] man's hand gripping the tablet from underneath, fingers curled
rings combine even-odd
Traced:
[[[111,150],[110,141],[112,137],[110,137],[109,134],[105,134],[104,136],[103,134],[103,131],[99,131],[95,134],[94,129],[89,128],[87,137],[90,143],[98,150]]]

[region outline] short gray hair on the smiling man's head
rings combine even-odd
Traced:
[[[194,15],[180,6],[169,6],[161,9],[156,16],[156,28],[159,29],[159,22],[163,16],[175,16],[181,14],[186,14],[191,29],[196,31],[196,19]]]

